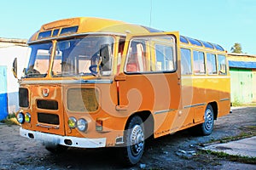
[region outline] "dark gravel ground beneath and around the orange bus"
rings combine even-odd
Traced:
[[[184,130],[148,141],[142,160],[124,167],[114,148],[79,150],[69,148],[55,155],[37,141],[20,137],[19,126],[0,124],[0,170],[3,169],[256,169],[256,165],[228,161],[201,153],[198,146],[212,140],[234,137],[256,126],[256,107],[233,110],[218,118],[213,133],[198,137]]]

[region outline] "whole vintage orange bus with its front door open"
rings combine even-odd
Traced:
[[[132,165],[149,137],[188,127],[208,135],[230,112],[229,66],[218,44],[81,17],[41,26],[28,45],[20,135],[53,152],[118,146]]]

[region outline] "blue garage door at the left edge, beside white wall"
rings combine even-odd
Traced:
[[[0,66],[0,121],[8,116],[6,71],[6,66]]]

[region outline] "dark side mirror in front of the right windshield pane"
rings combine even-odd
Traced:
[[[102,71],[111,71],[111,48],[109,44],[102,44],[100,50],[100,56],[102,57]]]

